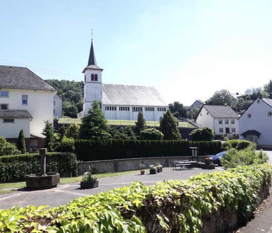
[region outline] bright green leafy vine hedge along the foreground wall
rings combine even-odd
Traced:
[[[248,219],[271,177],[272,166],[265,163],[152,186],[136,181],[60,207],[1,210],[0,232],[198,233],[221,210]]]

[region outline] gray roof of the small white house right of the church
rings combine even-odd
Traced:
[[[214,118],[238,118],[239,115],[229,106],[204,105],[203,108]]]

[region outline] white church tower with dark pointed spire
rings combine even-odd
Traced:
[[[92,39],[88,65],[83,70],[84,103],[82,116],[88,114],[88,110],[91,108],[94,100],[101,101],[102,99],[102,71],[103,69],[96,65]]]

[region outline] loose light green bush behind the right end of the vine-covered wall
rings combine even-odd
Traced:
[[[255,144],[253,143],[241,150],[231,148],[221,158],[221,164],[225,169],[228,169],[237,166],[265,163],[269,158],[268,155],[263,150],[256,151],[255,149]]]

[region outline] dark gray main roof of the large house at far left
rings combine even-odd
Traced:
[[[0,88],[55,90],[26,67],[0,66]]]

